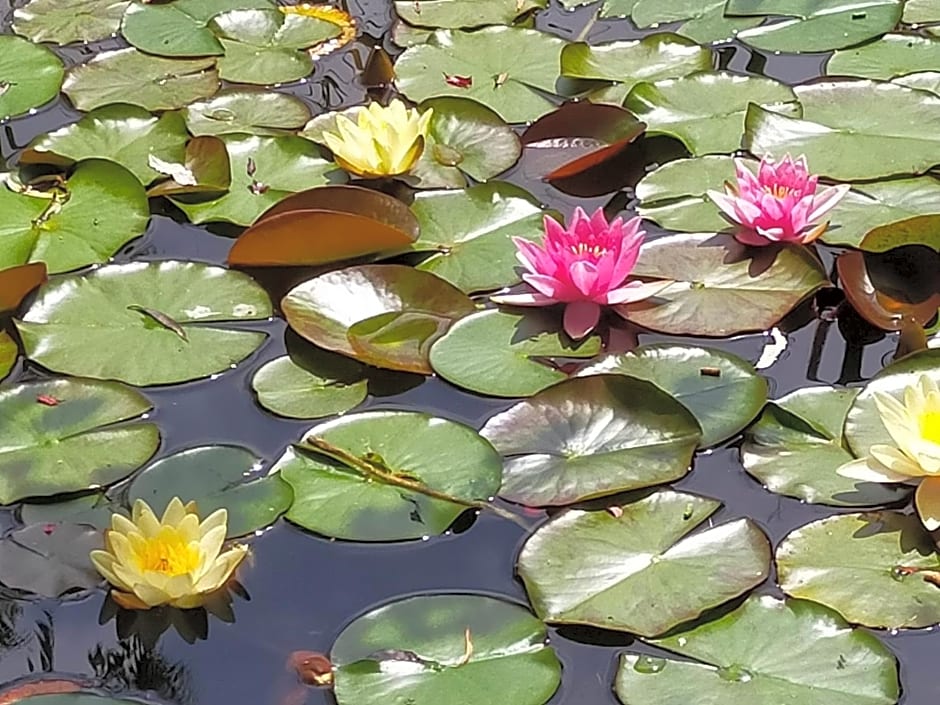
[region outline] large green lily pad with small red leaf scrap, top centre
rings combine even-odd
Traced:
[[[544,93],[555,93],[565,46],[558,37],[519,27],[438,30],[427,43],[398,57],[396,85],[417,103],[441,96],[470,98],[506,122],[535,120],[555,108]],[[461,88],[448,83],[448,76],[473,83]]]

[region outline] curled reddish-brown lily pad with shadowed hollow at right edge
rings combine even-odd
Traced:
[[[937,264],[925,261],[923,248],[903,249],[907,252],[894,250],[881,255],[852,250],[836,260],[846,299],[866,321],[882,330],[901,330],[906,320],[924,326],[940,308]]]

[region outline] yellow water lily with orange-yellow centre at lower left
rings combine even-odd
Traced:
[[[222,551],[228,512],[219,509],[200,523],[195,503],[174,497],[163,518],[138,499],[131,518],[111,517],[103,551],[91,561],[111,583],[111,597],[126,609],[171,605],[198,607],[232,576],[247,546]]]

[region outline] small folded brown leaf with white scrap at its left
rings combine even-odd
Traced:
[[[232,172],[225,142],[212,135],[193,137],[186,144],[183,164],[169,164],[153,155],[149,164],[152,169],[170,177],[147,191],[147,195],[179,196],[202,194],[216,196],[229,190]]]

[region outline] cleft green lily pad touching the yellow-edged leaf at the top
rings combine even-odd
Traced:
[[[232,10],[217,15],[211,27],[225,52],[218,61],[219,76],[260,85],[310,75],[313,57],[304,50],[342,32],[327,20],[280,10]]]

